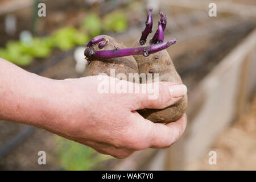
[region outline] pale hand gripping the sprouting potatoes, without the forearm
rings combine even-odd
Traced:
[[[112,77],[108,80],[115,80],[115,84],[120,82]],[[43,127],[115,158],[126,158],[134,151],[148,147],[169,147],[183,134],[187,121],[185,114],[178,121],[164,125],[144,119],[136,110],[163,109],[175,104],[187,93],[184,85],[159,82],[158,98],[148,100],[148,93],[100,94],[97,90],[99,83],[97,76],[62,81],[61,94],[52,104],[56,107],[53,108],[54,121],[51,126]]]

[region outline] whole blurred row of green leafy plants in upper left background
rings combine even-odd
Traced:
[[[35,58],[48,57],[53,48],[67,51],[76,45],[85,45],[90,38],[101,34],[102,31],[121,32],[126,28],[127,18],[121,11],[106,15],[104,20],[97,14],[89,14],[81,23],[80,31],[69,26],[60,28],[44,38],[34,37],[27,43],[10,40],[6,48],[0,48],[0,57],[14,64],[26,66]]]

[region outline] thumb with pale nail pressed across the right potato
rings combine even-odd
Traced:
[[[180,101],[185,94],[187,94],[187,87],[183,84],[176,84],[171,82],[158,82],[153,84],[140,84],[141,87],[147,85],[146,93],[140,92],[134,94],[136,102],[134,110],[138,109],[164,109],[170,105]],[[141,88],[143,90],[143,88]]]

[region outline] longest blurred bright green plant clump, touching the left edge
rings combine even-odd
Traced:
[[[76,28],[65,27],[53,32],[50,36],[35,37],[26,43],[10,40],[6,48],[0,48],[0,57],[14,64],[26,66],[36,57],[48,57],[53,48],[66,51],[76,45],[84,45],[88,39],[88,35],[77,31]]]

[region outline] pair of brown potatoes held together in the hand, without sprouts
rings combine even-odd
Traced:
[[[94,50],[126,48],[123,43],[110,36],[104,36],[105,40],[108,40],[108,44],[103,49],[98,48],[98,44],[96,44],[92,47]],[[138,40],[133,45],[133,47],[140,46]],[[146,45],[143,46],[150,46],[150,43],[146,43]],[[126,78],[128,78],[129,73],[159,73],[159,81],[170,81],[182,84],[181,78],[176,72],[174,64],[165,49],[160,52],[152,53],[147,57],[135,55],[114,57],[106,60],[94,60],[89,64],[88,76],[98,75],[100,73],[106,73],[108,76],[111,76],[110,69],[115,70],[115,75],[124,73]],[[152,82],[154,82],[154,75]],[[152,122],[168,123],[179,119],[185,112],[186,107],[187,95],[184,96],[181,101],[177,102],[177,104],[167,107],[166,109],[142,109],[138,110],[138,113]]]

